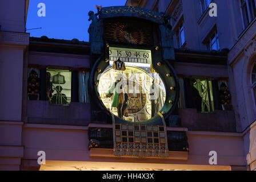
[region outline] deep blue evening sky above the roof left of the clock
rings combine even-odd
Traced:
[[[97,13],[95,5],[124,6],[126,0],[30,0],[27,13],[26,29],[30,36],[38,37],[45,35],[49,39],[78,39],[89,41],[87,32],[90,22],[89,11]],[[45,4],[45,16],[38,16],[38,4]],[[42,11],[41,11],[42,12]]]

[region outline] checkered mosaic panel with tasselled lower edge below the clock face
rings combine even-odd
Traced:
[[[114,118],[114,117],[113,117]],[[114,123],[114,155],[167,157],[166,126]]]

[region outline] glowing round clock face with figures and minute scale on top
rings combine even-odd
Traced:
[[[153,118],[162,109],[166,89],[158,73],[152,73],[151,51],[109,48],[110,65],[99,77],[98,93],[110,113],[129,122]],[[113,67],[122,61],[125,70]]]

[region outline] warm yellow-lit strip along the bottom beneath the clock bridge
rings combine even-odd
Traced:
[[[207,156],[208,157],[208,156]],[[152,162],[153,161],[153,162]],[[161,162],[161,161],[160,161]],[[175,161],[174,161],[175,162]],[[113,160],[111,162],[83,162],[67,160],[46,160],[42,164],[41,171],[50,170],[75,170],[75,171],[230,171],[230,166],[218,165],[195,165],[195,164],[173,164],[159,163],[159,159],[149,160]]]

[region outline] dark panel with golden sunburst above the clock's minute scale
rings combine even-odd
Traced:
[[[109,20],[105,23],[107,42],[123,44],[151,45],[151,26],[147,23],[128,22],[126,20]]]

